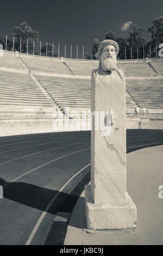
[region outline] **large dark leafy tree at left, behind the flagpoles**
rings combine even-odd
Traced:
[[[12,35],[15,37],[15,49],[17,51],[20,51],[20,40],[22,39],[21,52],[27,53],[28,39],[28,53],[33,54],[35,41],[35,54],[39,54],[39,32],[33,31],[27,22],[22,22],[18,26],[15,26]]]

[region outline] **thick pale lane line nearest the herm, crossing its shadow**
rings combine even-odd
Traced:
[[[76,174],[74,174],[69,180],[67,180],[67,182],[60,188],[60,190],[55,194],[55,196],[52,198],[52,200],[48,203],[48,205],[46,206],[46,209],[42,212],[39,220],[37,221],[37,223],[35,224],[34,229],[32,230],[32,233],[29,235],[28,240],[26,242],[26,245],[30,245],[30,243],[33,240],[33,237],[37,231],[37,229],[39,228],[43,218],[45,217],[45,215],[47,214],[49,208],[51,208],[51,205],[54,203],[55,199],[57,199],[57,197],[59,196],[59,193],[64,190],[64,188],[68,185],[68,183],[70,183],[70,181],[76,177],[80,172],[82,172],[84,169],[86,169],[88,166],[90,166],[91,164],[87,164],[87,166],[83,167],[81,170],[79,170],[79,172],[77,172]]]

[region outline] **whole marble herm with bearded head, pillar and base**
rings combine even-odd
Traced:
[[[98,69],[92,71],[91,111],[111,113],[110,132],[91,131],[91,185],[85,186],[87,227],[126,229],[136,227],[136,206],[126,191],[126,81],[116,66],[119,46],[101,42],[96,53]]]

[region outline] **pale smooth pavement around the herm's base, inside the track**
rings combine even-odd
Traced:
[[[127,154],[127,191],[137,207],[137,227],[126,231],[96,231],[86,227],[84,192],[73,210],[65,245],[162,245],[163,145]]]

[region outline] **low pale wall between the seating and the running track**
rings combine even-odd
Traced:
[[[34,133],[47,133],[47,132],[62,132],[62,131],[86,131],[90,130],[88,120],[84,121],[84,127],[80,123],[80,119],[69,119],[69,128],[63,121],[63,127],[58,127],[59,120],[57,119],[17,119],[17,120],[0,120],[0,135],[13,136],[25,135]],[[79,126],[80,124],[80,126]],[[150,129],[162,129],[163,118],[151,118]],[[143,118],[127,118],[127,129],[149,129],[143,126]]]

